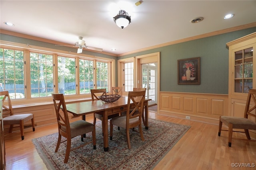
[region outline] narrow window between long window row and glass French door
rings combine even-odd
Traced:
[[[133,62],[124,63],[124,89],[126,92],[133,90]]]

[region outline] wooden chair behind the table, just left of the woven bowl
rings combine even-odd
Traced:
[[[94,100],[100,100],[100,98],[98,98],[98,96],[104,96],[107,95],[106,92],[106,88],[104,89],[91,89],[91,96],[92,96],[92,101]],[[119,116],[119,113],[116,113],[114,115],[109,115],[108,119],[112,119],[113,117],[117,117]],[[100,119],[102,121],[102,115],[98,114],[98,113],[94,113],[94,121],[93,124],[96,124],[96,118]],[[103,134],[103,123],[102,123],[102,134]]]

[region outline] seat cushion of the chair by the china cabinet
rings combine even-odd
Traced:
[[[221,116],[220,121],[226,125],[228,125],[228,123],[232,123],[234,129],[256,130],[256,123],[244,117]]]

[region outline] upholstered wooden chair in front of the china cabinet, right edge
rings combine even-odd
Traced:
[[[222,129],[222,123],[228,126],[228,130]],[[233,129],[244,129],[244,132],[234,131]],[[228,146],[231,147],[233,132],[245,133],[248,141],[256,141],[250,138],[249,129],[256,130],[256,89],[250,89],[246,101],[244,117],[220,116],[218,136],[221,131],[228,131]]]

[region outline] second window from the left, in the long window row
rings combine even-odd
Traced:
[[[31,97],[51,96],[53,92],[53,55],[30,53]]]

